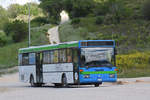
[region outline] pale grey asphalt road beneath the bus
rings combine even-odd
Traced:
[[[150,100],[149,77],[119,81],[104,83],[98,88],[55,88],[51,84],[32,88],[29,84],[18,82],[18,74],[5,75],[0,78],[0,100]]]

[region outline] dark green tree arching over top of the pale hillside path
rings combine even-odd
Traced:
[[[84,17],[93,12],[93,0],[40,0],[40,7],[46,11],[49,18],[59,20],[60,12],[65,10],[72,18]]]

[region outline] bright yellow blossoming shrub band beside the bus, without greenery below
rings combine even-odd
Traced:
[[[122,71],[128,71],[129,69],[143,69],[149,66],[150,57],[149,52],[136,52],[133,54],[118,55],[117,67]],[[128,70],[127,70],[128,69]]]

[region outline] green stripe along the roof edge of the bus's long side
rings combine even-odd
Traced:
[[[69,48],[69,47],[78,47],[78,43],[60,44],[60,45],[56,45],[56,46],[47,46],[47,47],[39,47],[39,48],[28,48],[28,49],[24,49],[24,50],[19,50],[19,53],[38,52],[38,51],[46,51],[46,50]]]

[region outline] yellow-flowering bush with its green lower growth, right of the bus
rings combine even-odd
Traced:
[[[132,54],[117,55],[119,77],[150,76],[150,52],[134,52]]]

